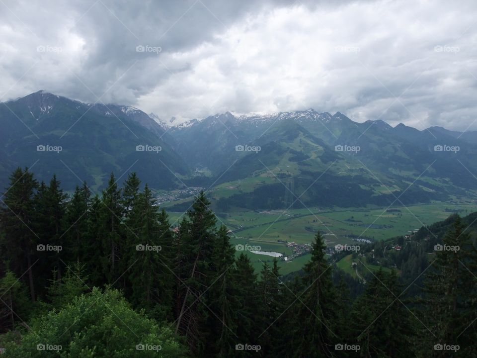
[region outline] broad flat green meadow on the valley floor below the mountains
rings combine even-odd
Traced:
[[[347,244],[352,237],[384,240],[405,235],[452,214],[477,211],[476,204],[433,203],[393,208],[320,211],[317,208],[229,213],[220,218],[238,237],[252,241],[288,240],[309,243],[318,230],[329,244]]]

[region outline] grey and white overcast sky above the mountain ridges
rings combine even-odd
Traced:
[[[475,0],[0,0],[0,101],[46,89],[166,120],[314,108],[477,130],[476,10]]]

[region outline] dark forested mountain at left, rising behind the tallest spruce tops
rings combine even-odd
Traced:
[[[2,187],[14,167],[36,161],[38,179],[56,173],[67,189],[82,179],[104,187],[111,172],[118,177],[130,167],[158,188],[176,187],[174,174],[187,173],[172,138],[134,107],[86,104],[38,91],[0,103],[0,125]]]

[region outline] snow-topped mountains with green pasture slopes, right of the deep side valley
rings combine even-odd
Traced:
[[[340,112],[313,109],[267,115],[226,112],[169,132],[189,166],[210,169],[218,183],[234,186],[234,180],[245,178],[253,183],[249,191],[222,198],[224,208],[276,207],[272,201],[283,201],[285,186],[293,187],[296,196],[305,192],[300,200],[309,205],[476,197],[477,179],[469,173],[477,174],[476,132],[460,136],[403,124],[393,128],[382,120],[356,123]],[[236,149],[247,145],[248,152]],[[267,182],[269,172],[281,183]]]

